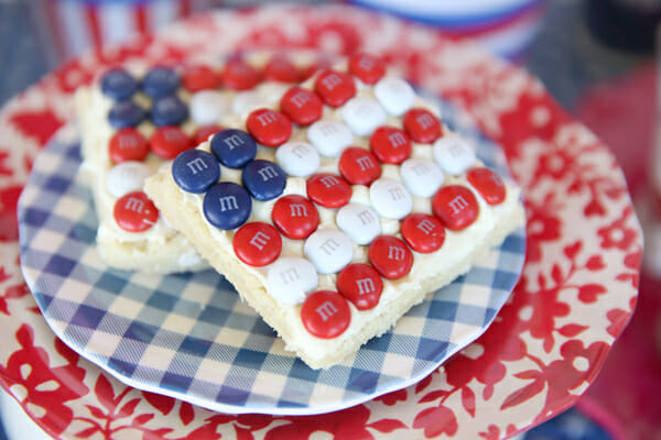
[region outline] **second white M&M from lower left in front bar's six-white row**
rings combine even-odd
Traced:
[[[334,274],[351,262],[354,246],[342,231],[322,229],[305,240],[303,252],[319,274]]]

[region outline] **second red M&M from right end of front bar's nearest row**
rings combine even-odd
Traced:
[[[460,185],[448,185],[434,195],[432,210],[445,228],[460,231],[477,219],[479,205],[470,189]]]

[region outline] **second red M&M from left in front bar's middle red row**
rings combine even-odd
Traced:
[[[293,194],[278,199],[271,220],[284,237],[292,240],[306,239],[319,226],[319,215],[312,201]]]

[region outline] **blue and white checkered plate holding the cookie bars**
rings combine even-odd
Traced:
[[[508,174],[501,150],[438,103],[444,122]],[[312,415],[409,386],[477,339],[511,293],[524,229],[465,276],[413,307],[355,359],[311,370],[213,271],[169,276],[109,268],[95,248],[97,218],[77,173],[71,127],[40,153],[19,201],[21,265],[46,321],[72,349],[120,381],[223,413]]]

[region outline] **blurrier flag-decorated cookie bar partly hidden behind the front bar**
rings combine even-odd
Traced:
[[[77,90],[82,170],[91,182],[97,246],[116,268],[173,273],[208,267],[142,191],[164,162],[299,82],[312,58],[251,54],[216,63],[126,66]]]

